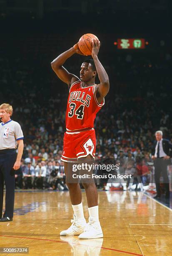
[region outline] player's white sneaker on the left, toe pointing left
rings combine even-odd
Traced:
[[[67,230],[63,230],[60,232],[60,236],[76,236],[80,235],[84,232],[85,227],[87,225],[85,219],[77,219],[75,214],[73,215],[73,220],[71,220],[72,225]]]

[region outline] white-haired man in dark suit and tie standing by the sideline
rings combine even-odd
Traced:
[[[172,143],[169,140],[162,138],[162,131],[156,131],[155,137],[156,140],[154,143],[154,152],[152,154],[152,159],[154,159],[154,166],[155,166],[155,184],[157,195],[155,196],[156,199],[160,199],[160,174],[162,172],[162,176],[164,179],[164,186],[165,186],[165,197],[170,197],[169,191],[169,179],[167,174],[167,165],[171,164],[172,157]]]

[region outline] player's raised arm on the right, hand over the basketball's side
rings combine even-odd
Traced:
[[[92,58],[95,62],[95,67],[100,80],[100,84],[97,85],[98,87],[97,92],[101,98],[101,97],[105,97],[109,92],[110,84],[109,84],[109,77],[104,67],[100,63],[100,60],[97,57],[99,49],[100,49],[100,41],[98,41],[97,39],[92,39]]]

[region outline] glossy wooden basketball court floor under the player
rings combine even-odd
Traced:
[[[34,256],[172,255],[170,208],[142,192],[100,191],[99,212],[104,238],[60,237],[72,218],[69,192],[16,192],[13,222],[0,223],[0,247],[29,247]]]

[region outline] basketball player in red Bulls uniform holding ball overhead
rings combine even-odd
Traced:
[[[61,160],[67,165],[71,162],[91,161],[95,159],[94,120],[97,112],[104,105],[104,97],[109,92],[109,78],[97,55],[100,41],[92,40],[92,59],[84,61],[80,68],[80,79],[69,73],[62,65],[73,54],[82,54],[78,43],[60,54],[51,63],[57,76],[69,86],[69,97],[66,111],[66,132]],[[82,54],[83,55],[83,54]],[[100,84],[95,84],[98,74]],[[72,175],[72,170],[71,170]],[[82,207],[82,195],[78,183],[67,183],[70,200],[74,211],[74,220],[61,236],[79,235],[81,239],[103,237],[98,214],[98,195],[95,183],[83,184],[87,196],[89,222],[86,224]]]

